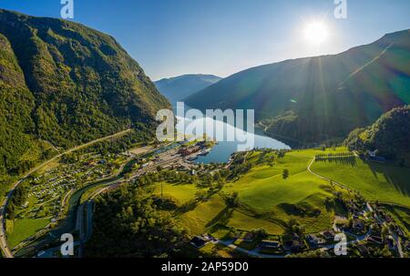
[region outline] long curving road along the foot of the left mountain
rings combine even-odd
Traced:
[[[9,191],[7,192],[7,195],[5,196],[5,200],[3,201],[2,206],[0,207],[0,249],[3,251],[3,254],[5,255],[6,258],[13,258],[13,252],[9,249],[8,244],[7,244],[7,240],[6,240],[6,235],[5,235],[5,208],[9,202],[9,200],[11,199],[11,197],[13,196],[13,193],[15,191],[15,188],[17,188],[18,185],[20,185],[21,182],[23,182],[25,179],[27,179],[31,174],[33,174],[37,169],[43,168],[44,166],[46,166],[47,164],[55,161],[57,158],[61,158],[63,155],[68,154],[68,153],[72,153],[78,149],[81,148],[86,148],[88,146],[91,146],[97,142],[109,139],[109,138],[116,138],[118,136],[122,136],[126,133],[128,133],[129,131],[131,131],[131,128],[128,128],[127,130],[124,131],[120,131],[116,134],[110,135],[108,137],[105,138],[97,138],[96,140],[90,141],[86,144],[77,146],[75,148],[70,148],[67,151],[60,153],[58,155],[56,155],[54,158],[51,158],[49,160],[47,160],[46,162],[42,163],[41,165],[37,166],[34,169],[29,170],[26,175],[18,180],[17,182],[15,182],[15,184],[12,186],[11,189],[9,189]]]

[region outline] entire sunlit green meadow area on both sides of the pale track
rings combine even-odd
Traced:
[[[192,184],[162,183],[162,192],[165,198],[174,199],[179,206],[190,205],[176,217],[192,234],[210,232],[223,237],[229,228],[245,231],[263,228],[269,234],[278,235],[291,219],[298,220],[306,232],[329,230],[336,210],[328,208],[324,201],[333,197],[335,191],[345,194],[348,191],[318,178],[307,167],[316,154],[346,151],[346,148],[331,148],[325,152],[319,149],[292,150],[284,158],[275,158],[272,166],[259,161],[261,152],[251,152],[247,162],[254,163],[254,167],[241,178],[226,183],[210,199],[195,203],[195,193],[199,189]],[[350,163],[317,161],[311,169],[359,191],[365,199],[410,207],[407,192],[410,169],[353,159]],[[289,170],[287,179],[282,177],[283,169]],[[224,200],[232,192],[238,192],[241,202],[235,209],[228,208]],[[154,193],[160,194],[160,184],[156,184]],[[407,218],[407,214],[405,210],[397,210],[395,215]]]

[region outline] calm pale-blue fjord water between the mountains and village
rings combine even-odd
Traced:
[[[185,126],[185,129],[187,129],[187,126],[190,124],[202,126],[204,126],[205,124],[212,124],[214,126],[214,129],[223,129],[224,138],[227,137],[227,132],[241,133],[242,135],[245,135],[248,140],[252,141],[251,147],[246,148],[247,150],[252,148],[290,149],[288,145],[282,143],[281,141],[265,136],[260,128],[255,128],[254,133],[250,133],[242,130],[241,128],[236,128],[234,126],[231,126],[230,124],[227,124],[226,122],[222,122],[214,118],[197,118],[192,120],[190,118],[181,118],[177,116],[177,120],[178,124],[176,128],[179,132],[183,132],[183,126]],[[215,132],[216,131],[214,131],[214,133]],[[198,135],[198,137],[201,137],[201,135]],[[215,138],[215,135],[212,138]],[[245,143],[241,140],[238,140],[236,136],[233,141],[226,141],[226,139],[224,141],[218,141],[218,144],[210,150],[210,153],[208,153],[206,156],[200,156],[195,161],[197,163],[203,164],[210,164],[212,162],[228,162],[231,154],[239,151],[238,146],[244,144]]]

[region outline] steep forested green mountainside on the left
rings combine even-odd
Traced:
[[[116,40],[86,26],[0,9],[0,175],[35,140],[74,145],[155,124],[169,107]]]

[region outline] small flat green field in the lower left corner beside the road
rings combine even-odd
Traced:
[[[50,218],[15,220],[13,231],[11,233],[7,232],[10,248],[14,248],[21,241],[26,240],[27,237],[33,236],[38,230],[44,229],[49,221]]]

